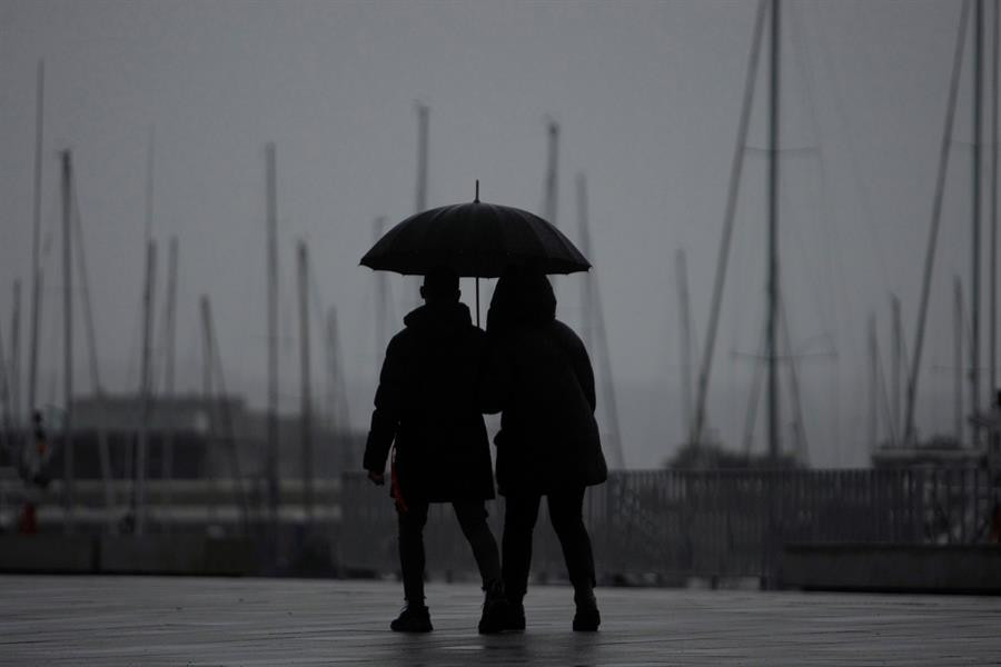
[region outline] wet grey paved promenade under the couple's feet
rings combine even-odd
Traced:
[[[430,584],[397,635],[394,581],[0,576],[0,665],[1001,665],[1001,598],[536,586],[524,634],[476,634],[480,593]]]

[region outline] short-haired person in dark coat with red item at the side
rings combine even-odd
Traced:
[[[458,301],[454,272],[426,276],[420,296],[425,305],[404,318],[406,328],[386,349],[365,448],[368,477],[381,485],[395,440],[390,492],[406,607],[390,628],[432,630],[424,603],[424,526],[429,502],[452,502],[486,591],[479,631],[496,633],[506,607],[497,542],[484,506],[494,497],[489,441],[476,400],[484,334]]]

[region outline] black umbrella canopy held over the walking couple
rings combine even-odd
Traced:
[[[496,278],[508,266],[545,273],[591,268],[581,251],[553,225],[509,206],[476,201],[410,216],[387,231],[361,265],[409,276],[448,267],[459,276]]]

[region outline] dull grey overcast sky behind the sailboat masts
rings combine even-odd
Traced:
[[[889,372],[891,292],[903,301],[913,349],[961,3],[790,0],[784,7],[782,143],[795,149],[781,163],[789,351],[801,356],[811,462],[864,465],[866,319],[878,312]],[[180,247],[178,385],[200,384],[198,297],[207,293],[227,381],[260,406],[267,331],[264,147],[275,141],[283,408],[298,406],[294,262],[301,238],[309,243],[317,301],[338,310],[351,419],[365,428],[381,350],[374,336],[375,276],[358,259],[371,243],[376,217],[395,222],[414,211],[415,102],[430,108],[429,206],[472,199],[478,178],[483,199],[541,211],[545,122],[552,117],[562,129],[556,221],[572,239],[579,236],[574,178],[587,176],[591,259],[604,302],[626,462],[656,466],[682,440],[684,427],[675,251],[687,252],[701,350],[755,8],[750,0],[4,0],[4,346],[18,278],[24,282],[22,322],[28,312],[39,59],[47,73],[39,399],[54,405],[62,402],[58,150],[73,150],[108,388],[138,385],[152,133],[160,313],[167,240],[177,236]],[[742,442],[763,326],[766,162],[757,149],[767,140],[766,62],[755,94],[710,401],[711,425],[732,448]],[[952,429],[953,275],[961,275],[969,295],[970,63],[968,53],[922,366],[918,412],[924,435]],[[579,280],[557,281],[559,317],[576,328]],[[399,322],[415,288],[392,281]],[[483,287],[486,298],[490,286]],[[463,289],[470,300],[472,282]],[[160,320],[158,315],[158,330]],[[314,377],[323,399],[320,316],[315,320],[314,358],[320,361]],[[82,332],[80,319],[77,330]],[[22,352],[27,335],[22,329]],[[76,350],[77,385],[87,390],[82,336]],[[789,440],[789,376],[782,381]],[[608,402],[604,389],[601,400]],[[606,417],[602,421],[607,425]],[[762,416],[759,427],[763,422]],[[761,449],[757,432],[753,447]]]

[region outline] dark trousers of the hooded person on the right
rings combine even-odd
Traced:
[[[575,589],[594,588],[594,554],[584,527],[584,487],[548,494],[549,522],[563,547],[563,559]],[[521,601],[528,589],[532,531],[542,496],[507,496],[504,509],[503,579],[507,597]]]

